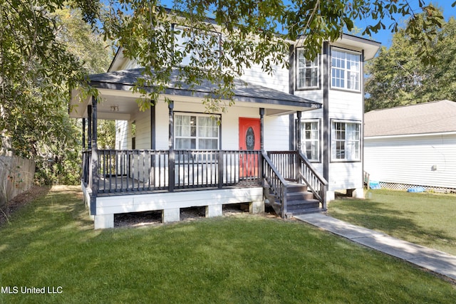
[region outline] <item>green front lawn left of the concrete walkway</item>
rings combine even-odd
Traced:
[[[450,303],[455,285],[297,221],[93,230],[78,187],[0,227],[0,303]],[[21,287],[59,294],[21,294]],[[57,289],[56,289],[57,290]],[[59,289],[60,290],[60,289]]]

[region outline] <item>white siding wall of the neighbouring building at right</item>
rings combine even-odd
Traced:
[[[456,135],[365,138],[371,180],[456,189]]]

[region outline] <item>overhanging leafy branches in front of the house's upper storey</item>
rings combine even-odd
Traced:
[[[398,31],[395,17],[410,16],[405,31],[421,42],[417,52],[423,61],[432,62],[429,44],[442,15],[426,1],[419,0],[415,10],[409,2],[175,0],[172,9],[166,10],[157,0],[113,0],[103,19],[103,30],[122,48],[124,56],[145,67],[145,78],[138,80],[135,90],[147,95],[147,100],[157,99],[169,83],[172,69],[177,68],[177,80],[182,83],[217,84],[204,100],[207,111],[214,112],[224,110],[220,97],[232,97],[233,80],[244,68],[259,65],[264,72],[273,73],[276,66],[288,65],[287,39],[300,39],[307,56],[316,56],[323,41],[335,41],[343,30],[351,31],[356,19],[374,20],[363,31],[370,34],[385,28],[387,20],[390,30]],[[417,12],[425,18],[418,20]],[[223,40],[217,32],[223,33]],[[182,61],[189,64],[182,66]],[[140,105],[148,108],[151,103],[142,101]]]

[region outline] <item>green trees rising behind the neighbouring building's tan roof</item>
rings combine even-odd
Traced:
[[[456,98],[456,21],[436,28],[430,47],[435,61],[423,63],[419,44],[400,29],[390,48],[366,65],[366,111]]]

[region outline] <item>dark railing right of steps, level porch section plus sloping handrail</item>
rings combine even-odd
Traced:
[[[298,151],[270,151],[268,156],[284,179],[306,184],[314,197],[320,201],[322,208],[327,209],[328,182],[316,172],[304,154]]]

